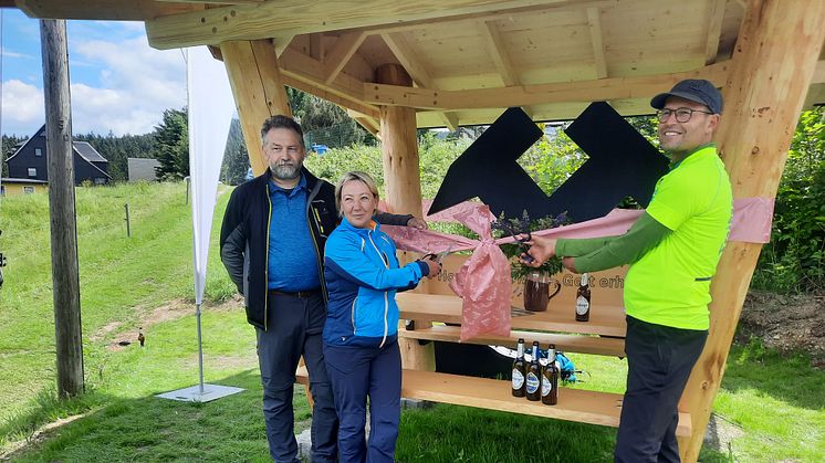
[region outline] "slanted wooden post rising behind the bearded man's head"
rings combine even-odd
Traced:
[[[231,41],[221,43],[220,52],[238,106],[252,171],[259,176],[267,170],[261,151],[263,122],[276,114],[292,116],[275,49],[269,40]]]

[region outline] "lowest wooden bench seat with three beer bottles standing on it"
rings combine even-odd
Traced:
[[[309,383],[305,367],[299,368],[296,380],[302,385]],[[417,370],[404,370],[401,396],[607,427],[618,427],[623,400],[619,393],[561,388],[558,403],[545,406],[512,397],[510,381]],[[690,434],[690,414],[680,412],[676,435]]]

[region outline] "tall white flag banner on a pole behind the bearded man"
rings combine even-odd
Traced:
[[[215,60],[206,46],[188,49],[188,56],[195,303],[200,305],[206,287],[218,177],[229,136],[229,125],[234,114],[234,99],[223,63]]]

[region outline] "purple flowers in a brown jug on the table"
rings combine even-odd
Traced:
[[[530,233],[539,230],[547,230],[568,223],[566,212],[556,217],[544,217],[530,220],[525,210],[521,219],[507,219],[503,214],[492,223],[495,238],[514,236],[519,242],[502,244],[501,251],[510,259],[511,274],[514,281],[524,282],[524,308],[531,312],[544,312],[547,309],[550,299],[562,290],[562,284],[553,275],[562,271],[560,257],[547,259],[541,266],[532,267],[521,263],[520,256],[524,255],[530,240]],[[551,291],[551,288],[553,288]]]

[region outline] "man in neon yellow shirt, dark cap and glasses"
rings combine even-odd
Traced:
[[[708,81],[679,82],[650,105],[670,171],[620,236],[534,238],[539,266],[560,255],[572,272],[630,264],[625,280],[627,392],[616,462],[678,462],[677,404],[708,337],[710,280],[732,214],[730,179],[711,138],[722,96]],[[525,262],[526,263],[526,262]]]

